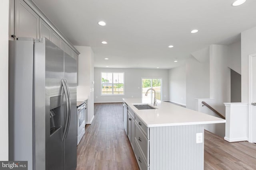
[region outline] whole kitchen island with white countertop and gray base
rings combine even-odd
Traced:
[[[128,106],[124,124],[140,169],[204,169],[204,124],[226,120],[169,102],[159,102],[157,106],[140,98],[123,99],[123,102]],[[154,108],[134,106],[140,104]]]

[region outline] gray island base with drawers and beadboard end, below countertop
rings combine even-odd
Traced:
[[[127,121],[140,170],[204,169],[204,143],[196,143],[196,133],[204,134],[204,125],[147,127],[129,106]]]

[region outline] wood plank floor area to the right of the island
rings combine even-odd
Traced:
[[[256,144],[229,143],[204,131],[205,170],[256,170]]]

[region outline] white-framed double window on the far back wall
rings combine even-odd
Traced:
[[[101,73],[102,95],[124,95],[124,73]]]

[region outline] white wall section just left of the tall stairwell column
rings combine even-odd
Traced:
[[[193,110],[196,109],[195,98],[210,97],[209,55],[200,58],[204,58],[201,63],[194,57],[186,63],[186,107]]]

